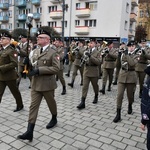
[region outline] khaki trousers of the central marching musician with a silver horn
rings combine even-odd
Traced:
[[[95,95],[98,95],[99,86],[98,86],[98,77],[87,77],[83,76],[83,87],[82,87],[82,97],[86,98],[89,84],[92,84]]]

